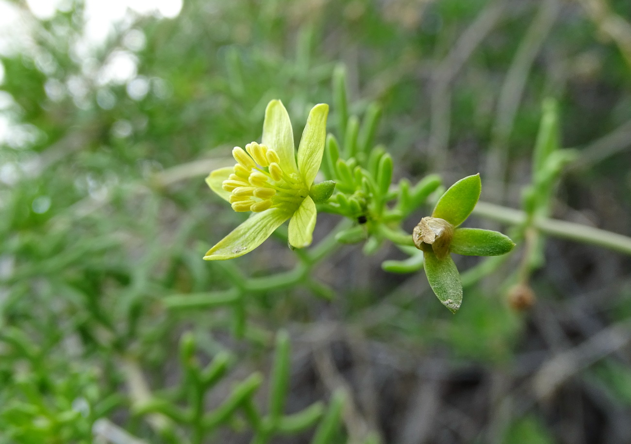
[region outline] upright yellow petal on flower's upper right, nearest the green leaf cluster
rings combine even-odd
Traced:
[[[326,117],[328,114],[329,105],[326,103],[315,105],[309,113],[307,125],[302,132],[298,146],[298,169],[307,186],[311,186],[315,174],[320,169],[326,140]]]

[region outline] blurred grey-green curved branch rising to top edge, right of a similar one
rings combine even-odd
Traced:
[[[508,142],[510,133],[512,132],[519,103],[524,94],[526,80],[534,58],[541,50],[546,37],[548,37],[560,9],[559,0],[545,0],[541,2],[539,11],[519,44],[517,53],[502,84],[486,165],[487,177],[497,181],[488,187],[492,200],[499,201],[504,196],[504,177],[509,159]]]

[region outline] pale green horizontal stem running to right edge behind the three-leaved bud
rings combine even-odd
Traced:
[[[478,202],[473,214],[504,224],[521,225],[528,217],[525,212],[488,202]],[[597,245],[620,253],[631,254],[631,237],[565,220],[540,217],[534,219],[534,227],[550,236]]]

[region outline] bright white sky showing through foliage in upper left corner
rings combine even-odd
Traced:
[[[26,4],[35,18],[50,20],[57,11],[69,11],[73,0],[26,0]],[[77,106],[85,105],[88,94],[88,79],[98,85],[127,84],[127,93],[134,100],[141,100],[151,90],[158,94],[167,94],[166,86],[160,88],[160,79],[136,77],[138,59],[134,52],[142,50],[145,37],[142,31],[131,29],[138,16],[155,16],[156,18],[175,18],[182,10],[182,0],[85,0],[86,25],[83,35],[73,42],[73,58],[83,68],[83,76],[71,76],[65,84],[51,78],[45,89],[51,100],[62,100],[70,93]],[[116,50],[101,69],[93,66],[93,54],[100,48],[110,33],[128,30],[123,38],[123,47],[127,50]],[[50,54],[38,51],[30,37],[33,32],[33,18],[15,4],[0,0],[0,55],[11,56],[22,52],[35,60],[38,69],[51,76],[56,68]],[[0,84],[5,73],[0,63]],[[110,98],[112,93],[103,90],[98,105],[105,109],[114,106]],[[98,97],[97,97],[98,99]],[[127,123],[127,125],[129,125]],[[127,135],[129,128],[119,125],[117,134]],[[0,144],[7,143],[13,147],[23,147],[37,139],[37,128],[29,125],[17,125],[13,119],[0,113]]]

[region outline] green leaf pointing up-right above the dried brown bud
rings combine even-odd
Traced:
[[[457,227],[473,211],[480,198],[481,190],[482,184],[479,173],[460,179],[440,196],[432,212],[432,217],[447,220],[454,227]]]

